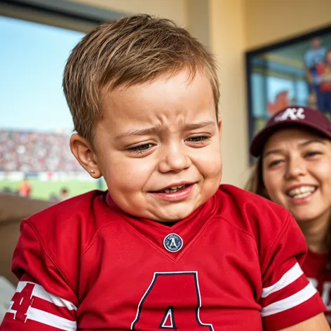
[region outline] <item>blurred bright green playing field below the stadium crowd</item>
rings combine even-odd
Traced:
[[[69,196],[76,196],[93,189],[100,189],[98,182],[83,182],[81,180],[69,180],[69,181],[58,181],[58,182],[43,182],[36,179],[31,179],[29,182],[32,184],[32,198],[39,198],[48,200],[51,194],[60,194],[60,190],[65,187],[69,190]],[[14,191],[18,189],[20,181],[13,180],[1,180],[0,190],[9,188]],[[106,189],[104,181],[102,181],[102,189]]]

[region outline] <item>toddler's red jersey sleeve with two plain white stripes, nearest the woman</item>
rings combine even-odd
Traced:
[[[305,256],[304,236],[288,214],[262,265],[259,303],[264,330],[282,330],[325,311],[320,295],[301,269]]]

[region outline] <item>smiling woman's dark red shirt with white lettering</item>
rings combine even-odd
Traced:
[[[328,254],[320,254],[309,250],[302,265],[302,270],[320,293],[327,309],[325,315],[331,325],[331,270],[327,269],[328,262]]]

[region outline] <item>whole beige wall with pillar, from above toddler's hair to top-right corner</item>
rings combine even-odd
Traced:
[[[248,175],[243,53],[331,24],[331,0],[71,0],[123,13],[175,20],[217,56],[221,83],[224,183]]]

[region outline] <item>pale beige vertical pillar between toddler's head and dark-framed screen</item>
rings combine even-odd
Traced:
[[[210,44],[219,63],[222,116],[222,182],[242,186],[248,167],[243,0],[210,0]]]

